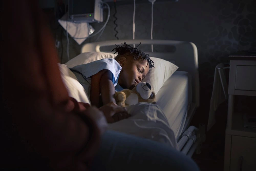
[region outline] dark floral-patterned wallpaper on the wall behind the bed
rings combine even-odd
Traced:
[[[115,39],[113,3],[110,7],[109,23],[98,41]],[[154,4],[153,39],[190,41],[198,48],[201,108],[205,112],[209,111],[215,66],[229,62],[226,57],[230,53],[256,50],[255,7],[253,0],[179,0]],[[117,2],[116,16],[119,39],[132,39],[133,3]],[[135,39],[151,38],[151,3],[136,5],[135,24]],[[97,30],[100,24],[93,26]],[[73,43],[72,57],[81,48]]]

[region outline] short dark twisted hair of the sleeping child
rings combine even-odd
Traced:
[[[138,44],[138,45],[140,45],[140,44]],[[116,45],[116,47],[112,51],[115,51],[115,53],[117,52],[118,55],[123,55],[125,53],[130,52],[130,54],[133,54],[134,60],[136,60],[140,57],[141,60],[147,60],[147,62],[149,64],[149,68],[154,67],[154,62],[149,58],[149,55],[141,52],[140,50],[137,49],[137,47],[138,46],[133,48],[132,46],[130,46],[130,45],[126,44],[126,42],[124,42],[121,44],[121,46]]]

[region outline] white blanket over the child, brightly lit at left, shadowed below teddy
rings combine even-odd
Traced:
[[[78,102],[90,103],[86,92],[76,76],[65,64],[59,64],[61,78],[69,96]],[[161,142],[178,149],[173,130],[162,109],[152,103],[137,103],[127,107],[130,118],[109,124],[109,129]]]

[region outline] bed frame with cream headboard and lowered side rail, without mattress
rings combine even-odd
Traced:
[[[200,144],[202,142],[202,137],[204,136],[204,128],[198,129],[194,126],[189,127],[189,124],[194,116],[195,110],[199,106],[199,75],[196,45],[191,42],[173,40],[110,40],[87,43],[82,46],[81,53],[112,53],[111,50],[115,45],[121,45],[121,43],[124,42],[126,42],[129,45],[134,44],[135,46],[141,43],[141,45],[139,46],[140,49],[144,51],[146,54],[149,54],[149,56],[170,61],[179,67],[179,71],[186,71],[191,75],[193,98],[192,103],[190,104],[190,108],[188,110],[186,123],[182,131],[183,134],[182,136],[178,137],[178,146],[183,153],[187,154],[190,157],[193,155],[195,151],[196,153],[200,153]],[[159,47],[159,45],[162,45],[164,47],[168,46],[170,48],[166,48],[166,50],[169,52],[151,52],[151,48],[150,52],[147,52],[141,48],[144,47],[144,45],[155,45],[157,47]],[[163,48],[160,51],[163,51]]]

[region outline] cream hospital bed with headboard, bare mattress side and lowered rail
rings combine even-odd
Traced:
[[[203,131],[189,126],[195,110],[199,106],[196,45],[191,42],[172,40],[112,40],[87,43],[82,46],[81,53],[113,53],[111,50],[115,45],[121,45],[124,42],[129,45],[141,43],[139,49],[149,56],[170,61],[179,67],[156,94],[156,103],[164,111],[171,129],[174,131],[179,150],[188,156],[192,156],[195,150],[199,152]],[[164,46],[168,52],[148,52],[142,49],[145,45],[150,46],[151,44],[158,47]]]

